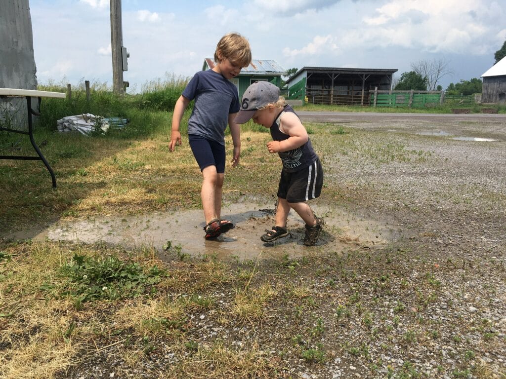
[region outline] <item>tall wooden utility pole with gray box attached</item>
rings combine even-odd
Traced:
[[[121,0],[111,0],[111,53],[112,53],[112,82],[114,93],[124,94]],[[124,65],[126,66],[126,62],[124,62]]]

